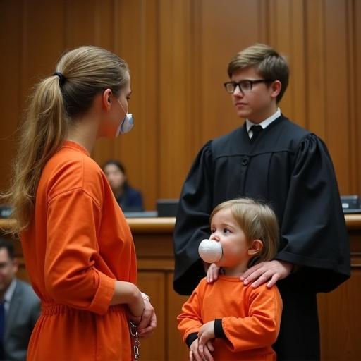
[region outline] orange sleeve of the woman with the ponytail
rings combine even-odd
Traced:
[[[97,229],[102,212],[82,188],[53,197],[48,204],[45,286],[56,303],[105,314],[115,279],[94,267],[100,260]]]

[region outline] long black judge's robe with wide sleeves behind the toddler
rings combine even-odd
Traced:
[[[281,115],[252,142],[244,125],[207,142],[183,185],[174,231],[176,292],[204,276],[198,245],[209,238],[217,204],[252,197],[273,207],[281,247],[275,259],[298,265],[277,283],[283,298],[279,360],[319,359],[316,293],[350,276],[348,233],[334,167],[324,142]]]

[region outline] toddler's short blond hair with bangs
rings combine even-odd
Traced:
[[[274,211],[267,206],[251,200],[250,198],[238,198],[228,200],[214,208],[210,219],[222,209],[231,209],[231,213],[238,223],[249,243],[252,240],[261,240],[262,250],[258,255],[250,259],[250,264],[270,261],[276,255],[279,248],[279,224]]]

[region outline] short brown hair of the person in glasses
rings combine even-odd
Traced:
[[[240,51],[228,64],[228,76],[239,69],[254,67],[264,79],[279,80],[282,84],[277,96],[279,103],[286,92],[290,70],[286,58],[265,44],[254,44]]]

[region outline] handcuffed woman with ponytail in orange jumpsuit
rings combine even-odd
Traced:
[[[127,64],[98,47],[64,54],[35,87],[8,198],[42,300],[28,360],[131,360],[129,321],[156,326],[136,286],[132,235],[90,153],[133,126]]]

